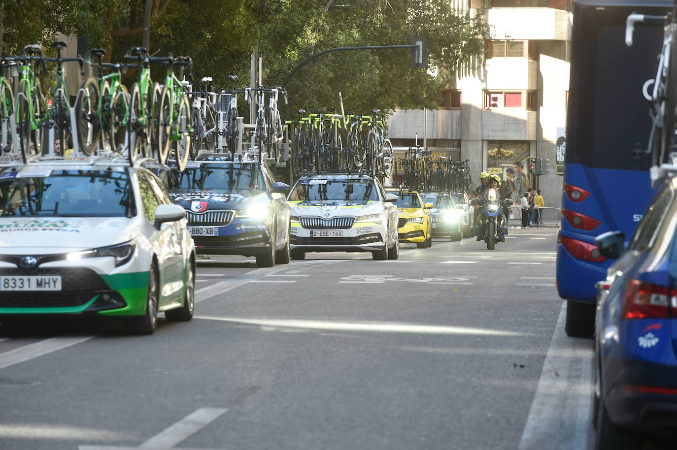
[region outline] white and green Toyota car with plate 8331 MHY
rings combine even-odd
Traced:
[[[185,212],[141,167],[85,161],[0,168],[0,321],[124,317],[188,321],[195,248]]]

